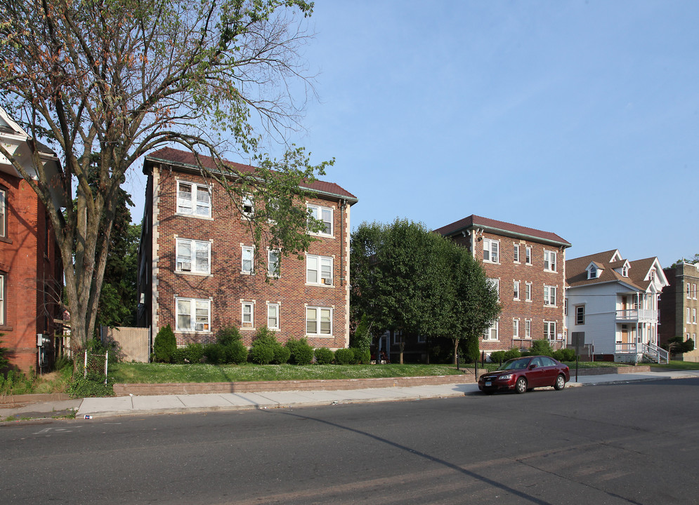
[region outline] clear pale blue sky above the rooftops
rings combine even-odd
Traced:
[[[697,1],[319,0],[291,140],[337,160],[353,229],[477,214],[669,266],[699,253],[698,22]]]

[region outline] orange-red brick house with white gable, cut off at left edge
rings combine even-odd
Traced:
[[[30,137],[0,108],[0,140],[29,172],[31,145],[44,170],[58,177],[55,153]],[[0,154],[0,346],[12,368],[28,372],[53,363],[53,321],[60,314],[63,267],[44,205]],[[41,346],[39,338],[42,335]]]

